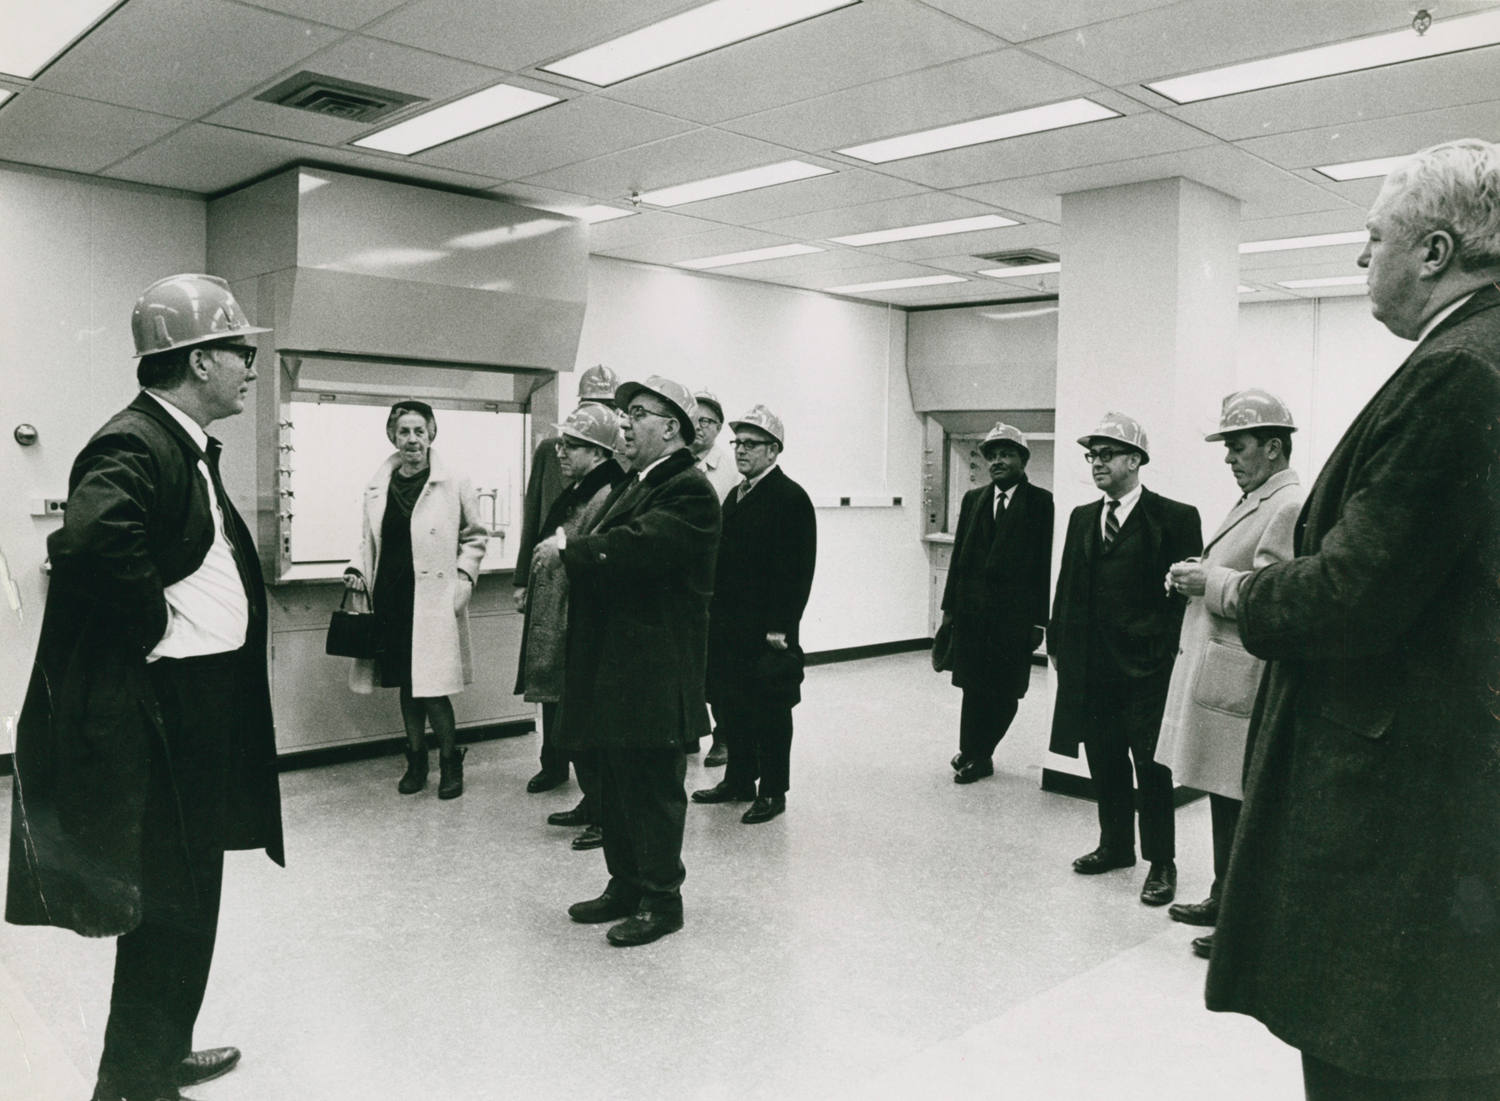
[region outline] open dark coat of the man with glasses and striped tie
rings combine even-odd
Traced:
[[[1203,526],[1198,510],[1190,504],[1140,490],[1140,500],[1120,526],[1114,546],[1126,538],[1144,538],[1146,554],[1142,568],[1125,594],[1134,606],[1132,621],[1124,627],[1096,627],[1090,608],[1090,578],[1104,549],[1100,514],[1104,501],[1083,504],[1068,518],[1068,536],[1062,544],[1062,567],[1058,572],[1058,592],[1047,626],[1047,654],[1058,666],[1058,704],[1052,714],[1052,752],[1078,756],[1083,741],[1084,686],[1089,680],[1089,634],[1104,632],[1108,651],[1131,676],[1164,674],[1178,654],[1182,632],[1182,610],[1186,600],[1179,592],[1166,591],[1167,570],[1173,562],[1203,550]],[[1094,670],[1096,675],[1100,670]]]

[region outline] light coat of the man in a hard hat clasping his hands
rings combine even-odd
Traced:
[[[1188,602],[1156,760],[1186,788],[1242,800],[1245,736],[1266,663],[1239,640],[1240,582],[1293,556],[1302,512],[1296,471],[1272,474],[1236,504],[1203,549],[1208,586]]]

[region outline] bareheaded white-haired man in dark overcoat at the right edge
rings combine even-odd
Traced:
[[[1296,556],[1244,582],[1269,658],[1208,1006],[1302,1050],[1310,1101],[1500,1098],[1500,148],[1371,208],[1416,348],[1334,448]]]

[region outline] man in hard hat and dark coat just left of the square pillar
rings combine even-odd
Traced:
[[[1030,687],[1052,576],[1052,494],[1026,480],[1026,436],[996,423],[980,454],[990,484],[963,495],[942,594],[952,682],[963,688],[954,783],[994,776],[994,747]]]

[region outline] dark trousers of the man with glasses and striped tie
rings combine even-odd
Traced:
[[[1100,848],[1136,852],[1136,786],[1140,789],[1140,850],[1152,864],[1176,860],[1172,770],[1152,759],[1161,712],[1167,705],[1167,675],[1089,681],[1083,748],[1100,804]]]

